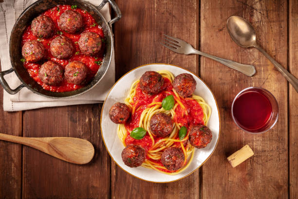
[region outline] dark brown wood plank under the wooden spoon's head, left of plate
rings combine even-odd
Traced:
[[[75,137],[93,143],[85,165],[56,159],[23,146],[23,198],[109,198],[110,157],[100,133],[101,104],[24,112],[24,137]]]

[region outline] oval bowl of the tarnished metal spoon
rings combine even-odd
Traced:
[[[242,17],[231,16],[226,23],[231,38],[238,45],[247,48],[254,47],[256,43],[256,32],[254,27]]]

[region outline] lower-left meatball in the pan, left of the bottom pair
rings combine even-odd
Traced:
[[[54,61],[47,61],[41,65],[39,79],[48,85],[58,85],[63,80],[63,68]]]

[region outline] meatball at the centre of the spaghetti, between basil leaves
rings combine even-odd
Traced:
[[[150,119],[150,130],[155,136],[166,137],[173,130],[173,121],[165,113],[158,113]]]

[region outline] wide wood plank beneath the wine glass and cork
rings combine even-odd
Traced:
[[[232,15],[251,22],[261,46],[282,66],[287,65],[286,1],[201,0],[201,50],[253,64],[257,70],[248,78],[201,58],[202,78],[218,101],[222,121],[217,149],[203,166],[203,198],[287,198],[287,81],[257,49],[245,49],[234,43],[226,30],[226,20]],[[249,86],[269,90],[279,103],[277,124],[261,135],[243,132],[231,118],[233,98]],[[245,144],[251,146],[255,155],[232,168],[226,157]]]

